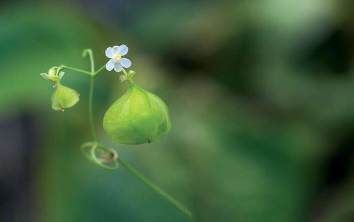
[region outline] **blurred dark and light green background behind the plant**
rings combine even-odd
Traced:
[[[51,109],[39,74],[89,70],[126,44],[134,80],[169,106],[162,141],[118,145],[102,129],[127,83],[95,81],[101,143],[191,211],[195,222],[354,221],[354,3],[351,0],[0,2],[0,221],[188,222],[123,167],[80,152],[81,94]]]

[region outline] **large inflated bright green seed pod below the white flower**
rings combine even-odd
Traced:
[[[142,144],[158,141],[171,129],[166,104],[128,78],[130,87],[108,109],[103,128],[114,142]]]

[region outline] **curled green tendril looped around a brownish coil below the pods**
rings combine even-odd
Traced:
[[[89,148],[89,150],[88,150]],[[116,170],[119,167],[118,154],[114,149],[107,149],[103,145],[96,142],[86,142],[81,145],[81,151],[84,156],[98,167],[106,170]],[[96,157],[96,152],[101,153],[101,157]],[[113,167],[108,164],[114,164]]]

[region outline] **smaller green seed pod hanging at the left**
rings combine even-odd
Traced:
[[[66,108],[73,107],[77,102],[79,102],[79,93],[77,91],[59,82],[56,83],[55,91],[52,95],[53,110],[64,111]]]

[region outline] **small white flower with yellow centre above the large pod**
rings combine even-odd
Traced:
[[[127,58],[122,58],[123,55],[128,53],[128,47],[126,45],[108,47],[106,49],[106,56],[110,60],[106,64],[106,69],[111,71],[113,68],[116,72],[120,72],[122,68],[129,68],[131,61]]]

